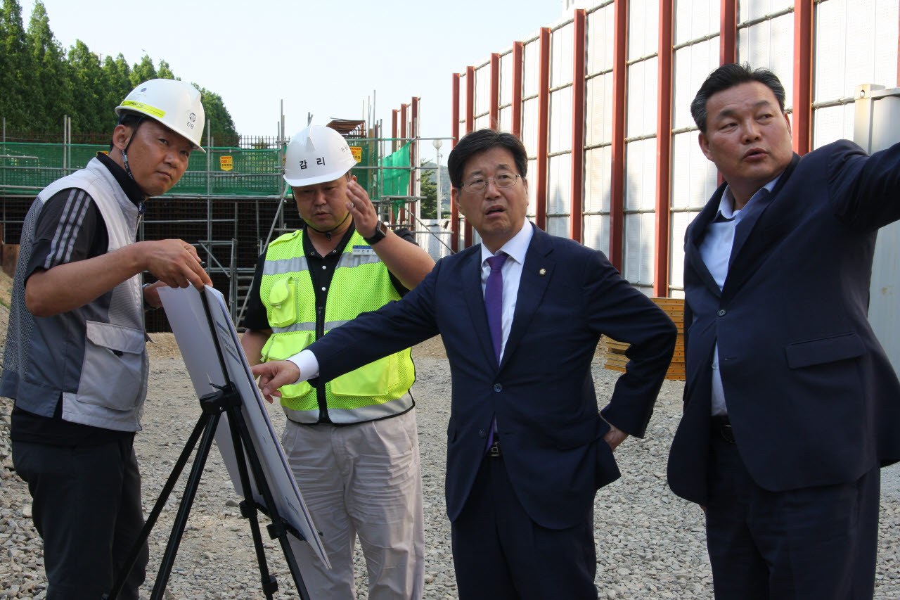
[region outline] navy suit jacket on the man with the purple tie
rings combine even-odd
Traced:
[[[535,229],[499,366],[484,311],[479,246],[441,259],[401,301],[360,314],[309,349],[320,377],[329,380],[437,333],[453,377],[450,520],[463,509],[496,414],[518,499],[536,523],[557,529],[583,519],[597,489],[619,477],[602,439],[608,424],[598,414],[590,375],[600,334],[632,344],[627,372],[603,416],[636,436],[644,435],[676,337],[671,320],[601,252]]]

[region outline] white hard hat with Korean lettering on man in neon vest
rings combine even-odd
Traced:
[[[334,181],[356,165],[347,140],[322,125],[304,127],[284,151],[284,181],[289,186],[313,186]]]

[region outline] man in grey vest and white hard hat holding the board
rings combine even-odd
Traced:
[[[48,600],[110,591],[144,519],[132,442],[147,395],[144,310],[157,286],[211,285],[181,240],[135,241],[144,202],[200,148],[200,93],[153,79],[116,108],[109,156],[53,182],[25,216],[0,395],[44,542]],[[141,286],[148,271],[158,282]],[[146,543],[119,598],[138,598]]]

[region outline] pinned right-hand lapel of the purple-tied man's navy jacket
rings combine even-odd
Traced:
[[[542,232],[535,227],[535,233],[528,244],[525,255],[525,263],[522,265],[522,277],[518,282],[518,295],[516,296],[516,314],[513,315],[512,327],[509,330],[509,338],[500,368],[509,361],[509,357],[522,341],[522,336],[528,329],[535,316],[537,307],[544,300],[544,295],[550,279],[553,278],[556,263],[551,260],[550,254],[554,247],[549,233]]]

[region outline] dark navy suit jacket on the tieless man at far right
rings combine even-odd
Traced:
[[[699,247],[724,191],[685,235],[687,382],[672,491],[707,500],[716,340],[737,448],[763,488],[849,483],[900,459],[900,384],[867,320],[876,233],[900,218],[900,145],[868,157],[837,141],[795,155],[744,209],[720,292]]]

